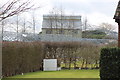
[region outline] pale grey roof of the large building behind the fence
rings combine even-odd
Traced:
[[[81,16],[43,15],[42,28],[81,29]]]

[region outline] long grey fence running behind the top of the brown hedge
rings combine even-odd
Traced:
[[[44,42],[92,42],[96,44],[108,44],[108,43],[116,43],[117,40],[112,39],[87,39],[87,38],[77,38],[72,35],[62,35],[62,34],[46,34],[46,35],[38,35],[32,33],[15,33],[15,32],[7,32],[3,33],[4,41],[23,41],[23,42],[32,42],[32,41],[44,41]]]

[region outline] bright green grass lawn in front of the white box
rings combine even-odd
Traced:
[[[99,70],[38,71],[10,78],[99,78]]]

